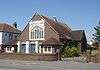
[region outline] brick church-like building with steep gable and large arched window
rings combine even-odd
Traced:
[[[54,54],[69,40],[76,41],[81,52],[86,51],[84,30],[71,30],[57,19],[35,14],[18,37],[17,52]]]

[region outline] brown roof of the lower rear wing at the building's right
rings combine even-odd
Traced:
[[[81,41],[82,39],[82,36],[83,36],[83,30],[76,30],[76,31],[72,31],[71,32],[71,37],[73,40],[76,40],[76,41]]]

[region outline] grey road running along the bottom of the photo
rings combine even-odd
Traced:
[[[66,61],[18,61],[0,59],[0,70],[100,70],[100,64]]]

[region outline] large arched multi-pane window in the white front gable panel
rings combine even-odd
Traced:
[[[35,26],[31,31],[31,39],[43,39],[43,28]]]

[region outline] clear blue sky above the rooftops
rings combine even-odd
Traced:
[[[66,23],[72,30],[85,30],[90,41],[100,21],[100,0],[0,0],[0,22],[23,30],[38,12]]]

